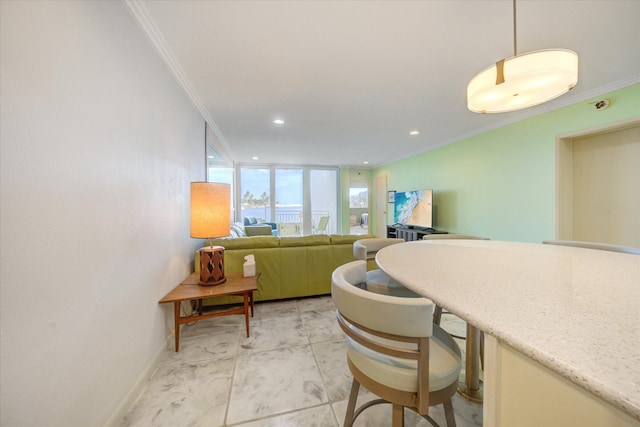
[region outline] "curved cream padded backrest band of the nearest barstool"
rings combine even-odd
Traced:
[[[331,297],[351,321],[393,335],[428,337],[435,304],[426,298],[403,298],[365,291],[354,284],[366,279],[366,262],[338,267],[331,277]]]

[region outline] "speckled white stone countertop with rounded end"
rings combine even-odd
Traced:
[[[640,256],[534,243],[391,245],[380,268],[640,420]]]

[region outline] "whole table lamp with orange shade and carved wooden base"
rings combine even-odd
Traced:
[[[212,239],[229,235],[231,226],[231,186],[218,182],[191,183],[191,237]],[[205,246],[200,249],[199,285],[226,282],[224,248]]]

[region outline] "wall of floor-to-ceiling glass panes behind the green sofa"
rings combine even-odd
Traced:
[[[240,166],[236,221],[275,222],[280,236],[338,233],[338,170]]]

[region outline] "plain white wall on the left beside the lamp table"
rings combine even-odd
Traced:
[[[204,122],[122,3],[0,5],[0,424],[103,425],[201,243]]]

